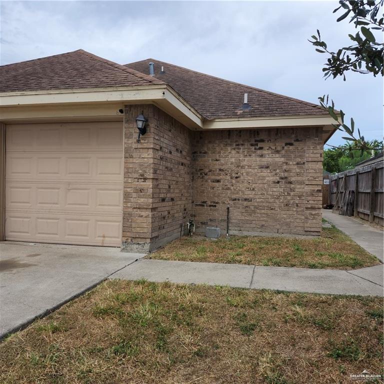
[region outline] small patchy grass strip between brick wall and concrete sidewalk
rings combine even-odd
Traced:
[[[362,268],[380,263],[333,226],[323,228],[318,238],[229,236],[209,239],[185,236],[146,257],[327,269]]]

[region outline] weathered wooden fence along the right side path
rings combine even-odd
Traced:
[[[339,214],[384,225],[384,162],[330,176],[329,200]]]

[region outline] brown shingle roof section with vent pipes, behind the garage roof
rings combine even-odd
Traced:
[[[196,72],[181,66],[148,58],[126,64],[149,73],[154,63],[154,77],[163,80],[206,118],[261,117],[281,115],[327,114],[319,105]],[[164,73],[160,73],[161,66]],[[242,109],[244,93],[248,93],[251,109]]]

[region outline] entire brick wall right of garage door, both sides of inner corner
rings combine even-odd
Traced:
[[[126,250],[161,246],[190,217],[225,233],[227,206],[233,234],[319,234],[321,182],[321,127],[192,132],[154,105],[125,106]]]

